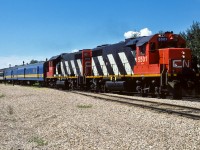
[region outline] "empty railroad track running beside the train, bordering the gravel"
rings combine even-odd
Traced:
[[[88,93],[80,91],[72,91],[76,94],[81,94],[84,96],[90,96],[93,98],[102,99],[105,101],[118,102],[126,105],[132,105],[137,107],[142,107],[146,109],[151,109],[163,113],[179,115],[191,119],[200,120],[200,108],[169,104],[164,102],[150,101],[141,98],[134,98],[130,96],[123,96],[117,94],[107,94],[107,93]]]

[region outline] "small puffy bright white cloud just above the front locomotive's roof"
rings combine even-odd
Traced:
[[[128,38],[133,38],[133,37],[138,37],[138,36],[149,36],[152,35],[152,31],[149,30],[148,28],[141,29],[139,32],[137,31],[128,31],[124,33],[124,37],[126,39]]]

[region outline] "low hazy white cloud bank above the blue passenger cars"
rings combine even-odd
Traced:
[[[46,58],[41,56],[38,57],[26,57],[26,56],[0,56],[0,69],[8,68],[9,65],[12,67],[15,65],[22,65],[23,61],[26,63],[30,63],[31,60],[45,61]]]

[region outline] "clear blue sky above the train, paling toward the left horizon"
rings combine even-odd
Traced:
[[[0,68],[125,39],[148,28],[179,33],[200,0],[0,0]]]

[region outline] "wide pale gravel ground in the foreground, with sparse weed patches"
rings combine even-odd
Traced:
[[[0,149],[200,150],[200,121],[66,91],[0,84]]]

